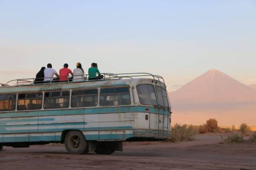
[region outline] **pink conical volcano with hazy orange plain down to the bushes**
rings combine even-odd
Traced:
[[[221,126],[256,126],[256,89],[211,69],[169,93],[173,123],[199,125],[209,118]]]

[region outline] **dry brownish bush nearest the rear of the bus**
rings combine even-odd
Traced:
[[[196,135],[196,129],[192,125],[175,124],[172,127],[172,141],[192,141]]]

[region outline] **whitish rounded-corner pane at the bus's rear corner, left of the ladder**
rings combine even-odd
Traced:
[[[139,84],[136,88],[139,95],[139,101],[142,105],[158,105],[154,86],[152,84]]]

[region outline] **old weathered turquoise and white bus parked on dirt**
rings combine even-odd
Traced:
[[[0,150],[64,143],[71,154],[112,154],[122,151],[122,141],[171,137],[171,106],[161,76],[104,75],[81,82],[2,84]]]

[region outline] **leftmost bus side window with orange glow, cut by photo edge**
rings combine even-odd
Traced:
[[[0,111],[13,111],[16,107],[16,94],[0,95]]]

